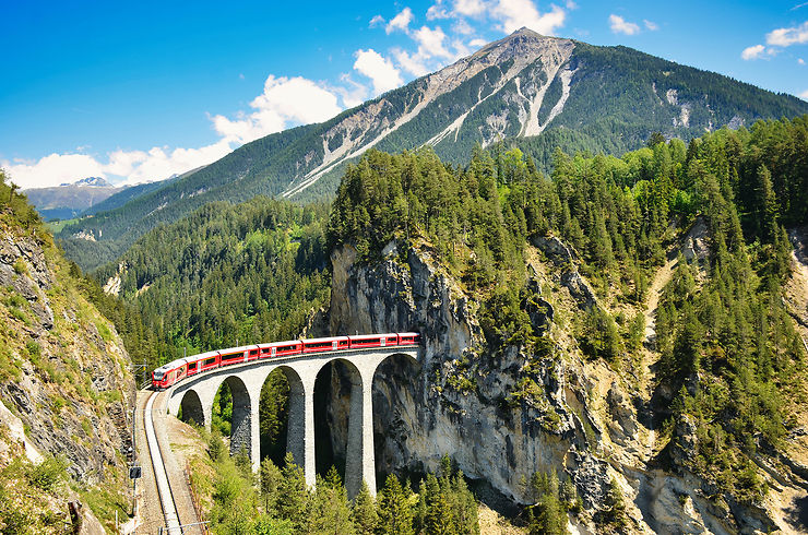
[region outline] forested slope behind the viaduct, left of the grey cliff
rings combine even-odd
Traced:
[[[210,204],[143,236],[95,277],[106,282],[119,266],[121,299],[97,295],[104,312],[122,325],[124,342],[150,369],[237,343],[288,340],[329,296],[324,205],[300,207],[256,198],[233,206]],[[102,294],[98,290],[97,294]],[[139,312],[136,318],[130,311]],[[131,324],[131,326],[129,326]],[[283,382],[283,380],[280,380]],[[283,390],[278,380],[273,392]],[[264,411],[264,435],[283,432],[283,407]]]

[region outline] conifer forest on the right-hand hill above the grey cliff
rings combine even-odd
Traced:
[[[620,304],[643,302],[670,240],[704,217],[709,262],[679,262],[657,318],[653,409],[669,439],[658,460],[685,448],[685,466],[711,488],[753,502],[767,492],[756,455],[776,450],[806,403],[805,349],[782,298],[784,225],[808,215],[807,126],[759,122],[622,158],[558,152],[551,180],[518,150],[477,153],[461,169],[430,153],[370,153],[346,171],[330,243],[372,261],[392,239],[425,237],[478,299],[490,348],[546,352],[531,329],[525,249],[532,236],[559,236],[604,302],[570,329],[590,358],[619,369],[644,329],[641,309]]]

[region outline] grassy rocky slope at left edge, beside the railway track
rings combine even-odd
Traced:
[[[0,195],[0,531],[104,533],[131,510],[129,357],[33,207]]]

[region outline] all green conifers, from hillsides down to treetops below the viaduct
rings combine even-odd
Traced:
[[[369,151],[346,168],[331,205],[261,197],[209,204],[146,234],[93,274],[100,284],[120,277],[119,299],[87,285],[124,340],[143,341],[133,357],[154,367],[183,350],[297,336],[328,305],[332,251],[350,245],[360,262],[373,263],[397,240],[402,257],[429,247],[475,296],[489,350],[519,346],[552,359],[560,357],[549,334],[531,326],[526,310],[525,257],[535,237],[555,236],[575,251],[603,304],[575,314],[568,328],[589,359],[632,369],[650,281],[673,246],[701,224],[708,257],[680,258],[660,299],[652,388],[655,425],[667,445],[656,459],[663,466],[675,462],[682,429],[696,429],[698,449],[687,468],[716,494],[757,502],[768,488],[754,459],[777,451],[806,401],[806,349],[783,299],[792,251],[786,229],[808,222],[808,117],[723,129],[689,143],[657,134],[619,158],[557,150],[551,168],[543,174],[530,154],[507,143],[475,148],[464,166],[429,150]],[[287,388],[268,384],[266,399]],[[214,433],[228,432],[227,397],[218,399]],[[284,403],[266,403],[262,433],[282,441]],[[335,473],[310,494],[290,463],[278,468],[268,460],[253,482],[238,472],[238,459],[233,464],[219,447],[211,450],[217,533],[243,533],[245,522],[256,533],[280,533],[275,523],[304,530],[312,518],[333,519],[344,533],[474,531],[473,499],[451,465],[415,485],[417,495],[392,476],[376,506],[365,495],[349,506]],[[555,475],[537,475],[532,485],[537,509],[524,522],[535,533],[563,533],[558,519],[575,509],[574,489]],[[230,507],[245,492],[262,511],[258,520]],[[278,504],[277,492],[298,492],[299,502],[288,506],[295,510]],[[619,491],[611,501],[608,522],[619,525]],[[453,524],[427,527],[437,518]]]

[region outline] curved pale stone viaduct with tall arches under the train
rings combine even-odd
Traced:
[[[345,489],[356,496],[365,479],[376,492],[373,455],[373,376],[379,365],[393,355],[406,355],[418,361],[418,346],[373,347],[288,357],[271,357],[192,376],[168,390],[168,412],[182,407],[182,416],[211,428],[213,399],[227,382],[233,393],[231,452],[247,448],[253,469],[260,463],[259,400],[261,388],[274,370],[280,369],[289,382],[286,451],[302,465],[306,483],[314,485],[314,380],[331,361],[344,362],[350,377],[350,411],[345,463]]]

